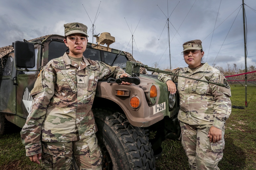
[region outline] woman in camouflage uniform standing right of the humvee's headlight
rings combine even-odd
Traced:
[[[219,169],[224,141],[224,123],[231,113],[230,87],[224,75],[208,63],[201,63],[204,56],[200,40],[183,44],[183,56],[188,67],[172,70],[176,75],[223,83],[226,87],[159,74],[158,79],[167,84],[170,93],[176,92],[178,83],[180,110],[178,119],[182,132],[182,145],[191,169]]]

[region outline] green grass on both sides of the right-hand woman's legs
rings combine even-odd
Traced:
[[[231,87],[232,106],[245,106],[245,88]],[[247,87],[248,107],[232,108],[225,125],[225,149],[220,169],[256,169],[256,87]],[[157,170],[188,170],[188,160],[180,141],[166,140],[162,158],[156,162]]]

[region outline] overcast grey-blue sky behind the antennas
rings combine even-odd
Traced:
[[[249,67],[256,65],[256,1],[244,0],[244,4]],[[195,39],[202,41],[204,62],[223,68],[236,63],[244,69],[241,7],[242,0],[168,0],[168,5],[167,0],[1,0],[0,46],[49,34],[64,35],[63,24],[80,22],[88,26],[89,42],[94,24],[94,34],[109,32],[115,37],[111,48],[128,51],[150,67],[157,62],[164,69],[170,67],[169,18],[172,69],[187,66],[182,44]]]

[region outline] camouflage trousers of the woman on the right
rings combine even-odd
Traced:
[[[191,170],[219,169],[218,163],[223,157],[224,126],[222,137],[218,142],[209,141],[207,137],[212,125],[189,125],[180,121],[182,146],[188,157]]]

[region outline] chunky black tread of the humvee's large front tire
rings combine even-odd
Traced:
[[[97,110],[95,116],[105,120],[105,123],[114,130],[116,136],[118,136],[123,144],[131,169],[155,170],[154,153],[151,149],[151,143],[145,135],[145,131],[140,127],[132,126],[125,115],[119,112],[112,112],[112,115],[106,116],[106,111],[103,109],[95,110]]]

